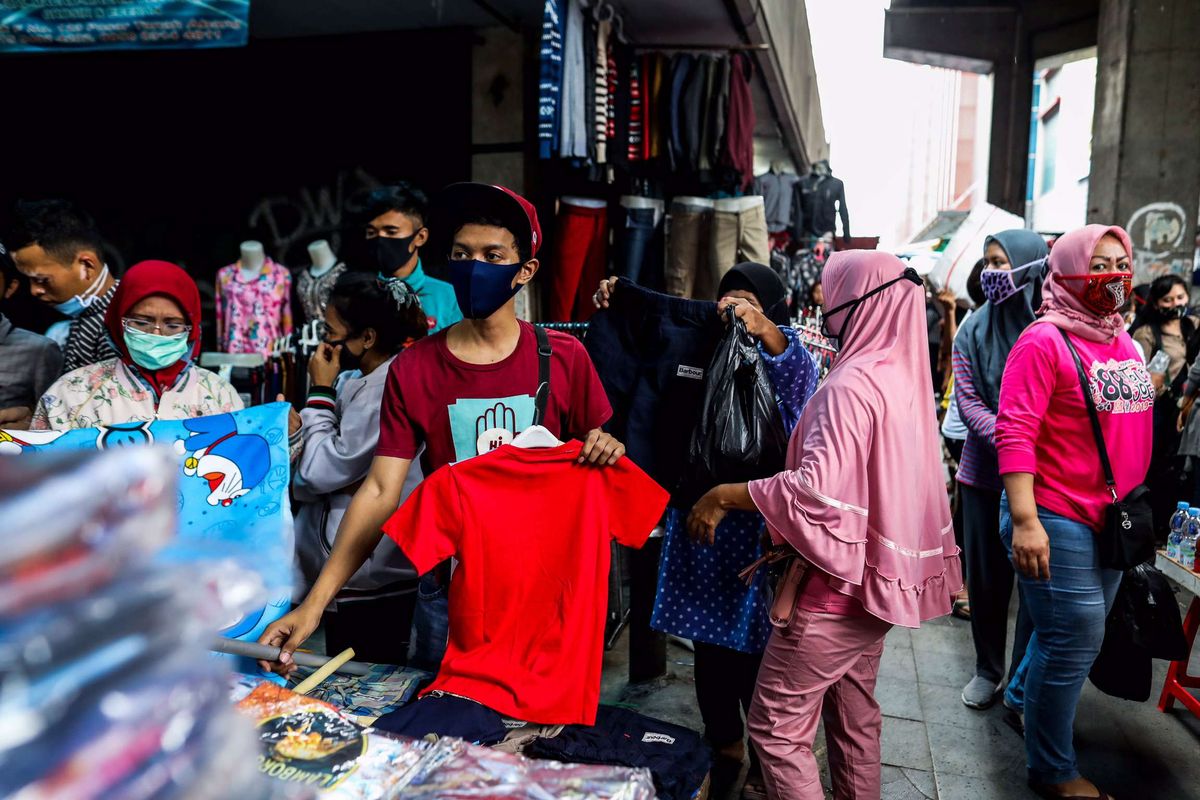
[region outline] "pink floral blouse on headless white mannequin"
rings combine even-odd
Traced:
[[[217,349],[271,354],[271,342],[292,335],[292,273],[271,259],[246,281],[238,264],[217,270]]]

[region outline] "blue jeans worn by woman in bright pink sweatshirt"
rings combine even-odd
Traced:
[[[1087,525],[1045,509],[1038,519],[1050,537],[1050,579],[1018,572],[1021,602],[1033,636],[1004,699],[1025,709],[1025,754],[1030,778],[1064,783],[1079,777],[1073,733],[1084,681],[1104,642],[1121,572],[1099,565],[1096,534]],[[1000,536],[1013,553],[1008,498],[1000,504]]]

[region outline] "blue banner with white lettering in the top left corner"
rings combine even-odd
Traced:
[[[0,0],[0,53],[245,47],[250,0]]]

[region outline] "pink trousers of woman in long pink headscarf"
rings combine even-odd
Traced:
[[[791,625],[775,630],[749,715],[772,800],[824,799],[812,756],[818,718],[826,723],[833,796],[878,800],[883,717],[875,678],[890,627],[875,616],[797,608]]]

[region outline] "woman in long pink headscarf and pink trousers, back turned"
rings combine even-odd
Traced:
[[[689,525],[710,536],[757,510],[809,565],[767,645],[750,736],[772,798],[823,798],[812,739],[824,704],[834,795],[880,796],[875,676],[893,625],[950,612],[962,587],[916,271],[874,251],[830,257],[826,325],[841,343],[792,434],[786,471],[719,486]]]

